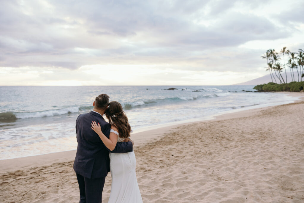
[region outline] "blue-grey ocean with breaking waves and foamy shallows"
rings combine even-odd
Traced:
[[[0,86],[0,159],[76,149],[76,118],[101,93],[122,104],[133,133],[297,99],[253,87]]]

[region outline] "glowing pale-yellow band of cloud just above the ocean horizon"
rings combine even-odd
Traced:
[[[152,70],[152,71],[151,71]],[[132,72],[132,74],[129,74]],[[77,70],[64,68],[1,68],[6,77],[0,85],[209,85],[232,84],[236,78],[259,77],[257,73],[175,69],[170,65],[92,65]],[[113,77],[113,75],[115,75]],[[16,81],[10,80],[11,77]],[[170,79],[168,79],[170,78]],[[10,82],[10,83],[9,83]]]

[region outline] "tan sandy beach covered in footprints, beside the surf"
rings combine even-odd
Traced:
[[[132,135],[143,202],[304,202],[303,98]],[[1,202],[78,202],[74,156],[0,160]]]

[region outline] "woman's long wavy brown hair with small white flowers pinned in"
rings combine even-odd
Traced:
[[[119,137],[130,137],[131,126],[119,102],[111,101],[109,108],[105,110],[105,116],[108,118],[109,124],[114,125],[118,129]]]

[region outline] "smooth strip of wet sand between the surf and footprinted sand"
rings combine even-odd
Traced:
[[[304,101],[303,92],[302,93],[278,92],[278,93],[285,93],[292,97],[299,97],[299,99],[294,100],[293,103],[299,103],[301,101]],[[253,108],[253,109],[231,110],[231,112],[228,111],[228,112],[224,112],[224,113],[221,113],[221,114],[218,114],[215,116],[210,116],[206,120],[190,121],[190,122],[186,121],[183,123],[171,124],[171,125],[161,124],[164,126],[134,133],[132,135],[133,140],[135,142],[134,147],[135,148],[142,147],[150,142],[153,142],[153,141],[157,140],[157,138],[160,138],[162,135],[167,134],[180,126],[186,126],[189,124],[196,124],[196,123],[208,122],[208,121],[220,121],[220,120],[225,120],[225,119],[238,118],[238,117],[242,116],[243,114],[246,114],[247,116],[254,115],[267,108],[281,106],[281,105],[285,105],[285,104],[279,104],[279,105],[267,106],[267,107],[259,107],[259,108]],[[149,136],[143,136],[144,134],[149,134]],[[20,169],[28,169],[33,166],[36,167],[36,166],[51,165],[51,164],[57,163],[57,162],[74,161],[75,155],[76,155],[76,149],[69,150],[69,151],[62,151],[62,152],[47,153],[47,154],[42,154],[42,155],[35,155],[35,156],[19,157],[19,158],[13,158],[13,159],[2,159],[2,160],[0,160],[0,171],[2,173],[5,173],[5,172],[15,170],[16,168],[18,168],[20,170]]]

